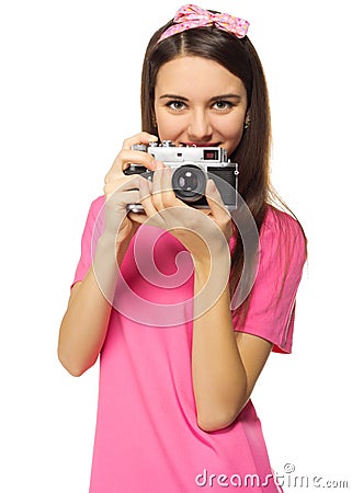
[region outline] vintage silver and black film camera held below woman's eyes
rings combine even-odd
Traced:
[[[205,197],[207,179],[212,179],[225,206],[237,208],[238,164],[227,159],[220,147],[177,147],[171,141],[135,145],[134,150],[149,152],[158,161],[169,165],[172,172],[172,188],[181,200],[195,208],[208,208]],[[141,164],[130,164],[125,174],[141,174],[152,180],[154,172]],[[140,204],[129,204],[128,211],[141,213]]]

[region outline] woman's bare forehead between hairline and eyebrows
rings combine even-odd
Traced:
[[[216,95],[232,91],[239,95],[246,94],[242,81],[220,64],[190,56],[174,58],[160,67],[156,81],[156,96],[166,91],[194,95]]]

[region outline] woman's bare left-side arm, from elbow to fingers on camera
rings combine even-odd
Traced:
[[[82,375],[101,352],[114,306],[118,276],[116,260],[121,264],[133,234],[146,217],[143,214],[127,216],[126,206],[139,203],[148,195],[149,182],[137,174],[126,176],[123,171],[129,163],[155,170],[156,163],[148,152],[132,150],[130,147],[156,140],[157,137],[145,131],[126,139],[106,174],[105,228],[100,236],[92,267],[72,287],[60,326],[59,359],[71,375]]]

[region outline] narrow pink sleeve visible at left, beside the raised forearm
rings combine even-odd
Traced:
[[[71,286],[79,280],[83,280],[92,264],[94,245],[96,244],[96,239],[100,237],[104,226],[104,214],[102,214],[104,204],[105,197],[101,196],[93,200],[90,206],[81,239],[81,255]]]

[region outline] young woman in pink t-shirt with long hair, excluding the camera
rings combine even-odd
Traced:
[[[124,141],[90,208],[58,353],[75,376],[100,356],[91,493],[277,491],[250,395],[270,353],[291,352],[306,242],[272,205],[268,93],[247,28],[184,5],[151,37],[144,131]],[[213,180],[198,210],[168,165],[133,148],[163,140],[224,148],[239,164],[260,241],[240,306],[242,232]],[[127,176],[130,163],[152,181]],[[127,215],[136,203],[144,213]]]

